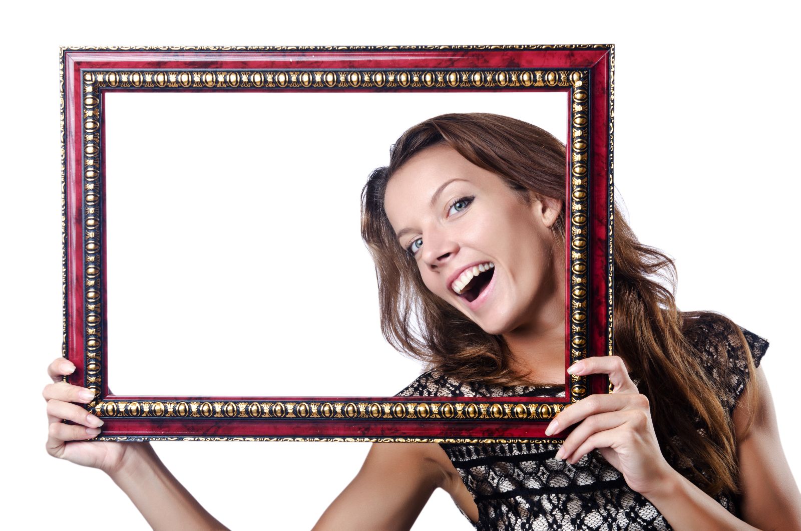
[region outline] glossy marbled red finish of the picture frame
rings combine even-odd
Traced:
[[[77,367],[70,375],[70,383],[87,385],[84,353],[84,273],[83,256],[83,139],[82,139],[82,71],[111,69],[116,71],[156,69],[219,69],[224,71],[251,69],[319,69],[319,70],[476,70],[476,69],[586,69],[590,72],[590,245],[588,316],[588,352],[606,355],[608,278],[610,274],[608,242],[608,210],[612,174],[610,145],[612,91],[612,61],[614,50],[610,46],[590,49],[456,49],[456,50],[337,50],[337,51],[91,51],[67,50],[63,52],[64,116],[65,116],[65,179],[66,179],[66,356]],[[105,88],[108,90],[154,90],[147,88]],[[171,88],[171,91],[260,91],[260,88]],[[334,88],[271,88],[271,91],[418,91],[419,87],[334,87]],[[456,87],[423,89],[437,91],[470,91]],[[515,90],[515,89],[505,89]],[[521,87],[525,91],[568,91],[569,87]],[[569,103],[570,105],[570,103]],[[102,108],[102,103],[101,103]],[[103,120],[100,120],[103,127]],[[570,129],[570,124],[568,124]],[[100,131],[103,138],[104,131]],[[570,135],[569,135],[570,138]],[[103,157],[101,157],[101,160]],[[570,175],[570,142],[568,145],[567,173]],[[101,175],[105,174],[103,167]],[[101,178],[101,183],[104,180]],[[566,184],[569,188],[569,184]],[[101,188],[100,207],[105,190]],[[103,223],[103,221],[101,221]],[[570,228],[569,228],[570,229]],[[100,264],[105,270],[105,231],[101,229]],[[570,249],[566,249],[570,257]],[[568,260],[570,263],[570,260]],[[570,271],[568,271],[568,276]],[[105,275],[102,275],[105,278]],[[568,285],[568,288],[570,286]],[[101,305],[105,302],[102,286]],[[566,337],[570,337],[570,308],[566,305]],[[101,312],[103,320],[105,312]],[[101,336],[101,367],[105,368],[107,337],[103,321]],[[569,351],[566,349],[566,361]],[[567,364],[567,363],[566,363]],[[567,376],[567,375],[566,375]],[[606,392],[606,376],[590,377],[591,392]],[[570,389],[567,389],[568,394]],[[107,387],[106,372],[101,373],[99,399],[149,400],[156,397],[115,396]],[[161,397],[161,400],[179,401],[276,401],[302,399],[305,401],[349,402],[352,400],[380,400],[421,402],[421,399],[392,399],[376,397]],[[499,399],[430,399],[426,402],[451,401],[472,403],[566,403],[566,399],[499,398]],[[536,438],[544,436],[545,423],[537,421],[497,420],[297,420],[297,419],[210,419],[210,418],[147,418],[131,419],[104,416],[103,436],[192,436],[192,437],[469,437],[469,438]]]

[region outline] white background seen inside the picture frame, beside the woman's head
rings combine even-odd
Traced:
[[[401,132],[445,112],[513,116],[564,143],[567,96],[107,94],[109,387],[394,395],[422,367],[380,331],[360,233],[369,173],[388,164]]]

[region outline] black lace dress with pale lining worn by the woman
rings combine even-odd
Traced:
[[[768,342],[740,329],[758,366]],[[731,415],[749,379],[747,353],[736,347],[738,341],[733,334],[711,322],[694,326],[685,334],[702,352],[702,365],[719,386],[718,395]],[[634,383],[638,383],[636,379]],[[434,370],[421,375],[398,396],[565,396],[564,389],[460,383]],[[570,464],[554,459],[561,444],[441,446],[476,502],[476,529],[672,529],[656,507],[631,490],[622,474],[598,450]],[[677,470],[691,465],[686,456],[665,457]],[[716,499],[739,517],[735,499],[726,493]]]

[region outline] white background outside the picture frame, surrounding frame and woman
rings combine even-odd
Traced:
[[[15,4],[2,14],[6,372],[2,524],[146,529],[102,472],[46,455],[41,398],[61,343],[59,45],[615,43],[615,181],[641,241],[679,271],[682,310],[771,341],[763,363],[795,476],[801,368],[795,14],[777,2],[136,2]],[[232,529],[309,529],[366,444],[156,444]],[[415,529],[470,529],[438,491]]]

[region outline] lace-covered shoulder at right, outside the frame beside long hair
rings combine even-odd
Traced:
[[[706,377],[718,391],[729,414],[733,414],[737,399],[751,380],[749,362],[753,360],[754,367],[759,367],[770,343],[716,314],[690,319],[684,335],[694,348]]]

